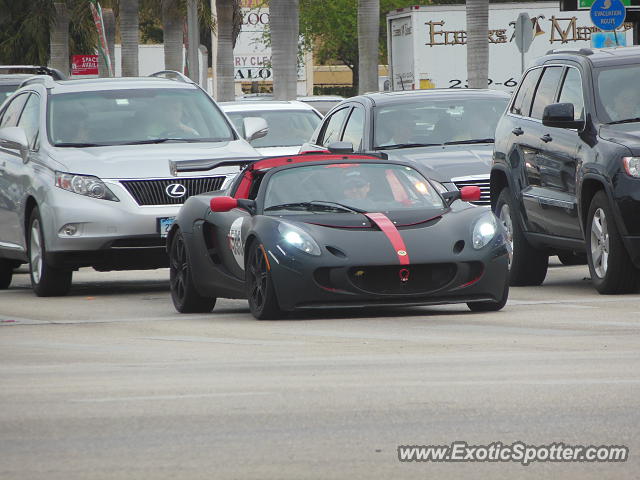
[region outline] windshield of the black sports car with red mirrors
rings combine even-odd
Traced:
[[[443,208],[435,187],[404,165],[309,165],[274,173],[265,212],[351,213]]]

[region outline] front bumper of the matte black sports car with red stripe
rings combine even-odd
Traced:
[[[274,250],[268,253],[271,273],[278,302],[284,310],[498,302],[508,281],[504,243],[486,247],[481,253],[425,256],[410,265],[375,262],[363,265],[349,261],[327,265],[326,258],[292,261],[277,248]],[[445,264],[451,268],[443,269]],[[434,271],[431,278],[429,269]],[[375,276],[375,281],[365,284],[354,280],[361,271],[363,276]],[[408,278],[403,281],[405,275]]]

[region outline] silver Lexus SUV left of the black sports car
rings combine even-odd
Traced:
[[[167,266],[163,237],[180,206],[237,172],[171,166],[259,156],[179,75],[25,83],[0,106],[0,288],[22,263],[39,296],[65,295],[80,267]],[[248,139],[266,134],[264,120],[244,126]]]

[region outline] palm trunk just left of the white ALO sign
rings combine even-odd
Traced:
[[[218,52],[216,55],[216,82],[219,102],[229,102],[235,99],[235,84],[233,79],[233,0],[216,0],[218,13]]]

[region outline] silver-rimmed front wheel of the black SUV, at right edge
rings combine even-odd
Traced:
[[[600,293],[629,293],[636,288],[636,269],[624,248],[605,192],[595,194],[587,223],[587,259],[591,280]]]

